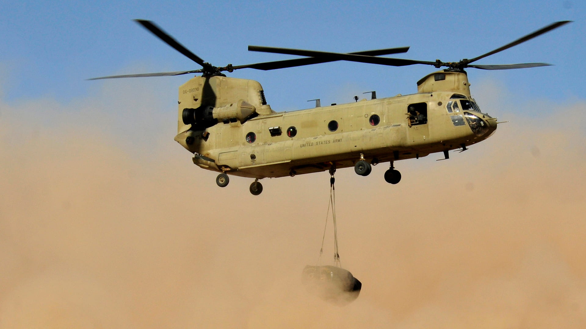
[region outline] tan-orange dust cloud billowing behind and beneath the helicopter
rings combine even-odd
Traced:
[[[450,160],[396,163],[396,186],[386,163],[339,170],[340,256],[363,283],[345,307],[301,286],[327,173],[263,180],[254,197],[251,180],[220,189],[190,163],[174,111],[134,152],[65,105],[45,107],[51,124],[0,105],[0,328],[586,327],[586,139],[563,119],[584,104],[507,112]]]

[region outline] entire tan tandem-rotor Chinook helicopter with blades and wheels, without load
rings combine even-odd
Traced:
[[[456,62],[420,61],[377,57],[407,52],[408,47],[357,53],[329,53],[311,50],[249,46],[248,50],[308,56],[301,59],[271,61],[225,67],[212,66],[149,20],[136,20],[163,42],[203,68],[147,74],[128,74],[93,78],[177,76],[201,73],[179,87],[178,133],[175,140],[193,153],[193,163],[220,172],[216,183],[225,187],[229,176],[255,179],[250,192],[258,195],[265,177],[295,176],[354,167],[367,176],[372,165],[390,162],[384,179],[397,184],[401,174],[394,169],[397,160],[427,156],[449,150],[466,150],[485,140],[496,130],[496,118],[481,111],[470,94],[465,68],[508,70],[548,66],[546,63],[503,65],[471,64],[479,59],[516,46],[570,21],[552,23],[498,49]],[[417,93],[389,98],[332,104],[291,112],[275,112],[265,100],[263,87],[254,80],[229,78],[222,72],[240,68],[274,70],[277,68],[357,61],[386,66],[427,64],[444,70],[417,81]],[[356,98],[356,97],[355,97]]]

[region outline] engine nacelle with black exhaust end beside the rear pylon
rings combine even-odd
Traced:
[[[182,113],[183,124],[194,125],[194,128],[205,129],[216,125],[218,122],[240,121],[243,124],[248,118],[257,114],[254,105],[248,104],[244,100],[236,103],[224,105],[222,107],[212,107],[202,105],[198,108],[184,108]]]

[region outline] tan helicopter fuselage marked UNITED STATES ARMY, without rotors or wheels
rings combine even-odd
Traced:
[[[257,81],[198,76],[179,88],[175,140],[204,169],[261,179],[465,149],[495,131],[464,71],[431,73],[417,85],[417,94],[274,112]],[[207,124],[185,124],[186,109],[208,111]]]

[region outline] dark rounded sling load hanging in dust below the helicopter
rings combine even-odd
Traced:
[[[362,283],[352,273],[330,265],[305,266],[302,282],[308,292],[339,305],[355,300],[362,289]]]

